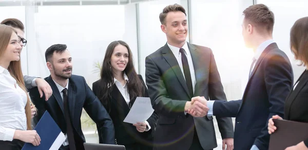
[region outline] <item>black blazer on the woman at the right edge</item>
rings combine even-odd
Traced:
[[[304,71],[297,85],[285,100],[284,119],[308,123],[308,71]],[[308,147],[308,139],[304,141]]]

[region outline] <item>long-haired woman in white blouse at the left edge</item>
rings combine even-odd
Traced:
[[[39,145],[31,130],[31,101],[21,69],[21,39],[13,28],[0,25],[0,149],[22,149],[24,142]]]

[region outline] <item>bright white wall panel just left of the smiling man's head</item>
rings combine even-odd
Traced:
[[[138,7],[139,17],[139,73],[145,78],[145,57],[163,47],[166,42],[166,34],[161,30],[159,14],[167,5],[181,4],[180,0],[158,0],[140,3]]]

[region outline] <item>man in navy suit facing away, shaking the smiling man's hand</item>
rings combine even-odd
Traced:
[[[207,103],[208,115],[236,117],[235,149],[265,150],[269,143],[268,119],[283,116],[284,101],[293,85],[293,72],[290,60],[273,40],[273,12],[258,4],[249,6],[243,14],[244,42],[255,55],[242,99],[228,102],[198,99]]]

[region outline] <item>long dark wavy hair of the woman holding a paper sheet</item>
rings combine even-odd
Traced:
[[[124,73],[125,73],[128,78],[128,82],[126,84],[130,99],[129,106],[132,105],[133,100],[136,99],[136,97],[143,96],[145,93],[145,87],[142,84],[140,78],[138,77],[136,70],[134,69],[132,53],[130,51],[129,46],[126,44],[126,42],[122,40],[111,42],[108,45],[105,53],[105,58],[101,69],[101,80],[100,80],[101,89],[99,90],[99,94],[97,95],[102,104],[108,110],[108,112],[110,112],[110,99],[111,99],[110,92],[112,91],[112,85],[114,82],[113,80],[114,76],[110,60],[114,48],[118,45],[125,46],[128,50],[128,62],[126,68],[122,72],[123,73],[122,78],[124,79]]]

